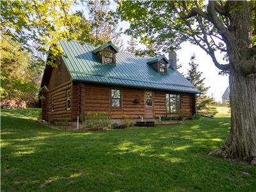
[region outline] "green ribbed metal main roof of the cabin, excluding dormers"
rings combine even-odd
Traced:
[[[74,81],[200,93],[182,74],[171,67],[168,67],[166,75],[157,73],[147,65],[148,58],[119,51],[116,53],[116,65],[106,65],[93,54],[93,45],[60,41],[60,46],[67,56],[62,58]]]

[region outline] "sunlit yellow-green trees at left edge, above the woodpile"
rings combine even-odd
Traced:
[[[34,56],[20,49],[8,36],[1,39],[1,99],[35,101],[42,66],[34,65]]]

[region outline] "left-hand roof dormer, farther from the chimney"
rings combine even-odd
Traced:
[[[116,53],[118,48],[112,43],[108,42],[101,45],[93,51],[94,54],[100,59],[103,64],[115,65],[116,64]]]

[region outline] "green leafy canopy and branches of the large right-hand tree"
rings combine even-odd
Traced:
[[[253,10],[255,4],[255,1],[237,4],[230,1],[119,1],[118,15],[131,24],[126,33],[140,37],[143,44],[168,52],[188,41],[207,52],[216,67],[227,71],[230,68],[227,51],[232,49],[232,33],[236,28],[233,20],[236,13],[242,9]],[[254,12],[250,14],[255,18]],[[248,38],[251,44],[244,47],[248,58],[243,65],[236,66],[245,74],[256,72],[255,63],[249,60],[256,52],[255,41],[252,41],[255,24],[253,19],[250,22],[252,30]],[[216,51],[225,54],[223,61],[217,60]]]

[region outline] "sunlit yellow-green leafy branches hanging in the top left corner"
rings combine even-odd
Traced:
[[[54,65],[54,58],[60,56],[58,40],[68,38],[77,15],[68,12],[74,1],[1,1],[1,37],[10,37],[20,44],[20,49],[28,52],[42,52],[35,55],[38,65],[44,65],[45,56],[51,47],[51,57],[47,60]],[[14,45],[13,45],[14,46]]]

